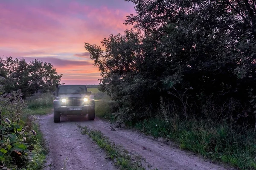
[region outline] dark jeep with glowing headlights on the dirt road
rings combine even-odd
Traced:
[[[95,100],[90,99],[91,91],[86,85],[56,85],[53,92],[53,122],[60,122],[61,115],[87,115],[95,118]]]

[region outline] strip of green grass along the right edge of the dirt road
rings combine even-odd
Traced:
[[[256,170],[256,133],[246,131],[239,134],[225,123],[213,125],[205,121],[165,122],[150,119],[134,126],[141,132],[171,139],[186,149],[199,153],[213,161],[222,161],[244,170]]]

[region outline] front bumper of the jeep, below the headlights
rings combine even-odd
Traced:
[[[81,108],[81,110],[70,110],[70,108]],[[60,112],[63,115],[75,115],[75,114],[82,114],[86,115],[88,111],[92,108],[90,105],[82,105],[82,106],[54,106],[54,111]]]

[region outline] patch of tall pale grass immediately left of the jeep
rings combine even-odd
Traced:
[[[29,109],[52,107],[53,96],[51,93],[36,94],[26,98]]]

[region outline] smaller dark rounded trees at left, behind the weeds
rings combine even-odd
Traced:
[[[55,84],[59,84],[62,74],[58,74],[51,63],[38,59],[26,62],[23,58],[0,57],[0,77],[5,79],[4,91],[21,90],[23,98],[41,91],[55,90]]]

